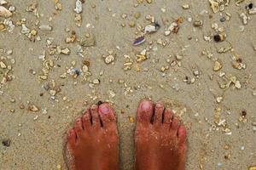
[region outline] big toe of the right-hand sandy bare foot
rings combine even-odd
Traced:
[[[137,108],[137,122],[149,124],[153,116],[153,103],[144,99]]]

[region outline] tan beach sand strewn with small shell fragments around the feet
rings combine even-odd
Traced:
[[[255,1],[240,6],[231,1],[224,11],[214,14],[205,0],[144,0],[138,5],[135,0],[85,0],[80,27],[74,21],[74,0],[60,0],[61,10],[55,9],[52,0],[8,2],[16,9],[10,17],[14,30],[0,32],[0,61],[12,65],[8,75],[13,75],[0,88],[1,170],[67,169],[63,157],[67,129],[84,109],[100,100],[111,102],[116,111],[120,169],[133,169],[134,120],[138,102],[144,98],[171,104],[182,117],[189,135],[186,169],[256,166],[256,14],[249,15],[245,26],[240,17],[247,14],[247,4],[256,6]],[[37,11],[26,12],[32,3],[38,3]],[[188,9],[183,8],[185,4]],[[221,22],[226,13],[231,14],[230,20]],[[148,14],[160,30],[134,46],[137,28],[150,24]],[[177,33],[165,36],[166,28],[180,17],[183,22]],[[20,33],[21,19],[26,19],[30,31],[38,31],[31,40],[27,33]],[[3,20],[0,17],[0,23]],[[202,20],[203,25],[194,26],[195,20]],[[224,28],[224,42],[206,41],[217,34],[213,23]],[[39,30],[41,25],[52,26],[52,31]],[[78,41],[66,43],[72,31],[78,41],[89,32],[96,44],[81,50]],[[47,46],[49,37],[53,41]],[[230,45],[229,51],[218,53]],[[71,53],[50,55],[49,48],[56,46]],[[140,61],[136,56],[143,49],[147,49],[147,59]],[[39,59],[44,51],[48,64]],[[102,55],[111,54],[114,60],[108,65]],[[217,63],[213,71],[217,60],[222,68]],[[125,63],[131,66],[124,68]],[[89,71],[82,74],[83,65]],[[39,78],[44,67],[46,80]],[[0,68],[0,81],[6,69]],[[223,89],[220,84],[224,83],[228,86]]]

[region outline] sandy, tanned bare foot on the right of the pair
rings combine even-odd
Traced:
[[[137,170],[184,170],[186,129],[164,105],[140,103],[135,140]]]

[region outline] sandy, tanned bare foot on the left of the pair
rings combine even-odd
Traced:
[[[67,135],[70,170],[117,170],[119,137],[109,104],[92,105]]]

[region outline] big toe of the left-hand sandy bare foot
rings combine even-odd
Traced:
[[[108,103],[99,106],[99,114],[103,127],[109,127],[116,124],[113,108]]]

